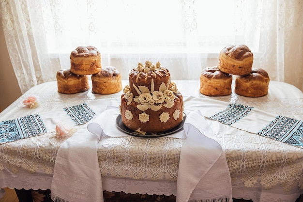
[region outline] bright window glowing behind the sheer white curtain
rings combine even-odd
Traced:
[[[64,0],[43,5],[49,53],[93,45],[104,54],[218,53],[245,38],[245,7],[238,0]],[[126,54],[126,55],[124,55]]]

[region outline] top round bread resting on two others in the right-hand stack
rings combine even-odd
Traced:
[[[232,75],[247,75],[252,70],[254,54],[246,45],[227,46],[220,52],[219,69]]]

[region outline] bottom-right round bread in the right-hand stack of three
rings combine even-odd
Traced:
[[[270,78],[264,69],[253,69],[249,75],[237,76],[235,93],[245,97],[261,97],[268,93]]]

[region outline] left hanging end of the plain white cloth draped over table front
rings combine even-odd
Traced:
[[[85,126],[63,142],[51,184],[54,202],[103,202],[97,155],[100,135],[88,132]]]

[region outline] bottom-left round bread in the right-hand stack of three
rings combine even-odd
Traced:
[[[200,75],[200,93],[208,96],[231,94],[232,76],[219,70],[217,66],[207,67]]]

